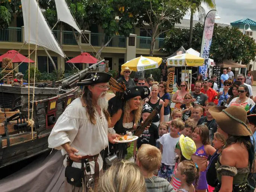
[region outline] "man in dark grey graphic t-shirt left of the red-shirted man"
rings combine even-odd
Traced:
[[[208,98],[206,94],[201,92],[202,87],[203,85],[201,81],[195,82],[195,87],[194,87],[195,91],[190,92],[190,94],[195,100],[194,104],[206,106],[208,104]]]

